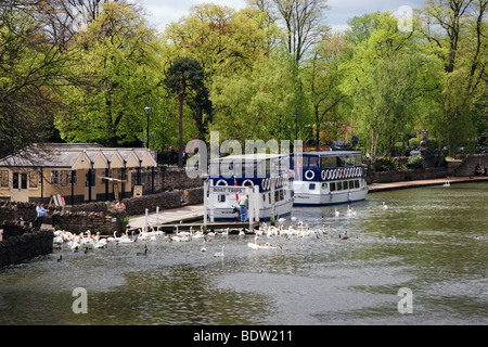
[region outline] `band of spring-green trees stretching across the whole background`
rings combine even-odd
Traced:
[[[134,1],[2,1],[0,152],[56,132],[116,146],[150,130],[155,150],[209,130],[356,136],[373,157],[422,130],[451,154],[486,137],[487,0],[426,0],[408,33],[365,14],[343,34],[328,30],[325,0],[247,2],[197,4],[156,33]]]

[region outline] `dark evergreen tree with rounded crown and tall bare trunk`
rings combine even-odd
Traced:
[[[176,60],[167,72],[166,87],[178,95],[178,166],[183,166],[183,104],[188,93],[193,91],[191,103],[201,114],[211,107],[208,101],[208,91],[205,87],[205,72],[202,65],[192,57]]]

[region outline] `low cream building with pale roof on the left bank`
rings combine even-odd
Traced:
[[[156,154],[147,149],[34,144],[0,159],[0,198],[43,203],[60,196],[73,205],[131,197],[142,170],[154,167]]]

